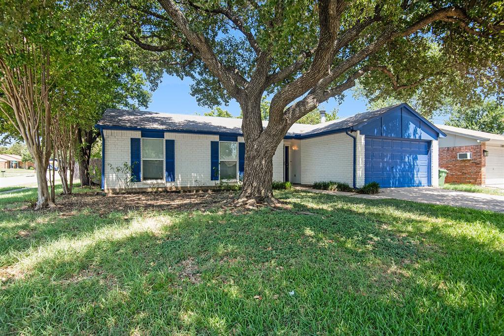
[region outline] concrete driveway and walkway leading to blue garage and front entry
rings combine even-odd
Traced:
[[[303,186],[295,186],[298,190],[320,192],[340,196],[350,196],[369,199],[395,198],[411,200],[420,203],[440,204],[453,207],[490,210],[504,213],[504,196],[488,195],[477,192],[447,190],[433,187],[418,188],[384,188],[375,195],[364,195],[353,192],[318,190]]]

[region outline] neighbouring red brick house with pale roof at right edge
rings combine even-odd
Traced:
[[[446,182],[504,186],[504,136],[436,125],[447,136],[439,140],[439,167]]]

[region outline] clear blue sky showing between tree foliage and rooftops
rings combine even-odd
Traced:
[[[163,81],[159,84],[157,90],[153,92],[152,101],[147,110],[179,114],[203,114],[204,112],[208,112],[210,110],[208,107],[199,106],[196,99],[191,96],[191,84],[192,80],[189,78],[181,81],[178,77],[165,74]],[[221,107],[228,110],[234,116],[240,114],[240,107],[234,100],[228,106]],[[324,103],[324,108],[327,111],[332,111],[335,107],[338,107],[335,99]],[[351,91],[348,91],[345,100],[339,106],[338,115],[344,118],[366,110],[366,101],[355,99]],[[442,121],[441,119],[434,118],[434,122],[436,123]]]

